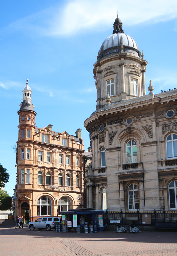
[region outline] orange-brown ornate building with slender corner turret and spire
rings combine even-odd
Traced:
[[[84,151],[81,129],[76,136],[35,126],[31,88],[23,90],[17,141],[16,215],[25,222],[84,206]],[[79,201],[78,195],[82,198]],[[57,206],[56,206],[57,205]]]

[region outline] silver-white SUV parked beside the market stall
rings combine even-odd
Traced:
[[[56,228],[56,222],[60,222],[58,217],[41,217],[35,221],[29,222],[28,228],[34,230],[35,228],[46,228],[48,231],[52,228]]]

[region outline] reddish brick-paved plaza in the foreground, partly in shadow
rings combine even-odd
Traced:
[[[2,256],[176,256],[177,232],[143,231],[140,234],[104,231],[77,234],[15,229],[15,222],[0,224]]]

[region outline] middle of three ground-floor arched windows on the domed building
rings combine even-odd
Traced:
[[[139,191],[136,184],[129,185],[128,198],[129,210],[139,209]]]

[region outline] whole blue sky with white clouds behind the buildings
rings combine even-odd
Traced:
[[[4,1],[0,8],[0,163],[16,184],[15,153],[19,104],[26,78],[32,89],[37,127],[75,135],[96,108],[93,64],[117,16],[148,61],[146,93],[177,88],[177,1],[77,0]]]

